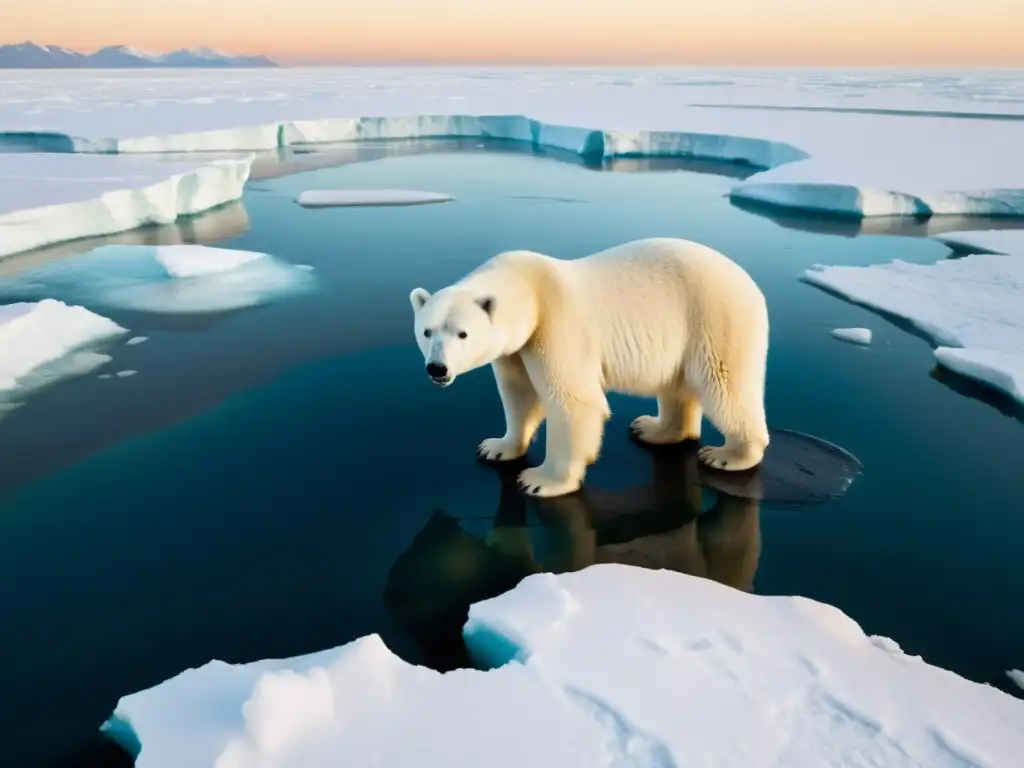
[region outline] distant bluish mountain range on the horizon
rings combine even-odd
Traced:
[[[147,53],[128,45],[109,45],[94,53],[79,53],[58,45],[0,45],[0,70],[134,70],[155,67],[227,68],[276,67],[266,56],[231,56],[211,48],[182,48]]]

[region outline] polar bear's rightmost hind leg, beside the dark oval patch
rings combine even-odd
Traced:
[[[768,447],[763,364],[752,362],[753,370],[730,370],[714,354],[702,362],[694,384],[708,419],[725,435],[725,444],[705,445],[697,455],[715,469],[751,469],[761,463]]]

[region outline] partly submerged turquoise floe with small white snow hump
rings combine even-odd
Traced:
[[[187,245],[103,246],[0,276],[0,299],[55,297],[146,312],[220,312],[315,285],[313,273],[264,253]]]

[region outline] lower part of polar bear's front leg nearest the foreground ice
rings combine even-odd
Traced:
[[[530,496],[571,494],[583,485],[587,465],[600,452],[606,412],[577,403],[566,409],[549,403],[544,463],[519,474],[519,483]]]

